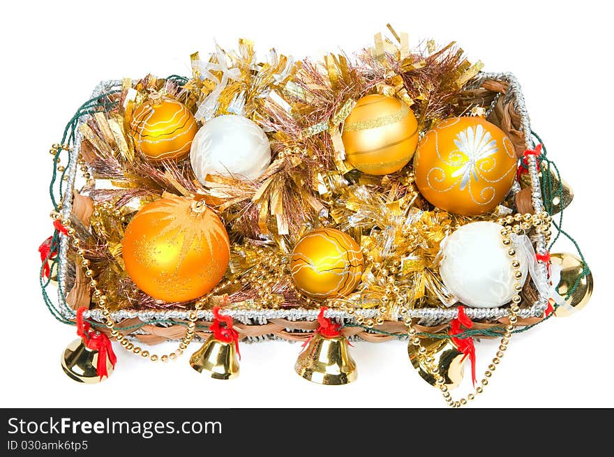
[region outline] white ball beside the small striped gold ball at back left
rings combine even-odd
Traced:
[[[204,184],[207,174],[258,179],[271,163],[271,147],[262,128],[250,119],[225,114],[198,130],[190,150],[192,170]]]

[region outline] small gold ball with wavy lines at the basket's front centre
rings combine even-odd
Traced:
[[[315,299],[350,294],[360,282],[363,267],[357,242],[331,228],[313,230],[302,237],[290,260],[294,284]]]

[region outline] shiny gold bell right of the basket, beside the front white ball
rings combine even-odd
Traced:
[[[584,269],[582,259],[570,253],[551,253],[550,261],[553,265],[560,267],[560,278],[558,284],[555,284],[560,296],[566,298],[571,287],[574,287],[577,283],[576,289],[566,301],[576,311],[584,308],[592,295],[593,280],[592,273],[589,273],[578,281]],[[561,306],[557,308],[556,315],[557,317],[567,317],[571,313]]]

